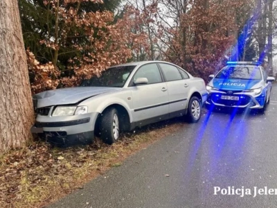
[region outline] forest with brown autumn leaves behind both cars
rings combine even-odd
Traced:
[[[226,60],[272,71],[274,0],[19,0],[19,11],[33,94],[141,60],[205,80]]]

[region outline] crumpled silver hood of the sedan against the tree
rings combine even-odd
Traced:
[[[78,103],[98,94],[119,90],[121,88],[117,87],[69,87],[53,89],[35,94],[33,101],[37,108],[51,105],[68,105]]]

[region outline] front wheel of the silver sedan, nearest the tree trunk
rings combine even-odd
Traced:
[[[118,112],[115,108],[109,108],[103,112],[100,120],[100,139],[106,144],[113,144],[118,141],[119,128]]]

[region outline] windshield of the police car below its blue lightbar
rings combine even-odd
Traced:
[[[226,66],[215,78],[261,80],[262,76],[257,66]]]

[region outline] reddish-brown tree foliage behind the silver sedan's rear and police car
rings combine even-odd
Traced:
[[[234,44],[231,34],[238,23],[233,17],[243,9],[238,2],[191,1],[189,12],[179,10],[179,17],[172,16],[177,26],[159,24],[157,38],[168,46],[167,60],[207,80],[222,67],[225,51]]]

